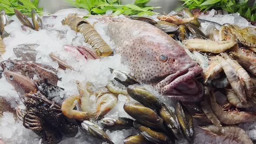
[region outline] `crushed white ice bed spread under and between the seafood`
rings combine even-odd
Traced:
[[[7,52],[3,55],[3,59],[16,59],[16,56],[13,53],[13,48],[20,44],[38,44],[39,46],[36,48],[38,54],[36,56],[36,62],[51,65],[54,68],[58,68],[58,64],[53,62],[49,58],[49,53],[53,52],[57,56],[66,60],[69,65],[71,65],[75,70],[60,70],[58,72],[58,76],[62,78],[62,81],[58,82],[58,85],[66,90],[69,95],[78,94],[76,89],[75,80],[79,80],[81,82],[93,82],[96,86],[105,86],[109,80],[112,80],[114,77],[109,71],[109,67],[113,69],[124,70],[129,72],[125,65],[121,64],[121,56],[114,55],[108,56],[103,59],[96,60],[88,60],[84,59],[75,59],[75,56],[72,53],[66,52],[63,49],[63,45],[72,44],[74,46],[84,45],[89,46],[84,42],[82,35],[80,33],[75,33],[69,26],[62,26],[61,21],[69,14],[69,13],[79,13],[85,15],[88,13],[86,10],[82,9],[68,9],[61,10],[55,13],[57,15],[56,18],[51,16],[46,16],[43,18],[43,29],[39,31],[29,30],[23,31],[21,28],[20,21],[16,18],[16,16],[12,16],[11,19],[14,20],[13,23],[5,27],[5,30],[10,33],[10,36],[4,38],[3,41],[7,46]],[[108,14],[111,11],[108,11]],[[231,17],[233,16],[233,21],[231,21]],[[123,15],[119,17],[125,17]],[[243,20],[241,16],[230,15],[229,23],[238,23]],[[238,18],[239,21],[238,21]],[[98,17],[89,17],[87,20],[90,23],[94,23],[97,21]],[[156,20],[156,15],[152,16],[154,20]],[[215,19],[221,20],[219,23],[226,23],[227,19],[223,16],[203,16],[200,18],[212,20]],[[248,25],[248,23],[243,22],[243,26]],[[105,35],[103,30],[104,23],[98,22],[95,24],[95,29],[100,33],[103,39],[114,48],[113,44],[110,42],[110,38]],[[90,47],[90,46],[89,46]],[[166,98],[162,95],[158,95],[157,92],[154,91],[151,85],[143,85],[145,88],[153,92],[157,95],[159,99],[166,102],[167,105],[170,105],[172,102],[169,98]],[[0,79],[0,95],[4,96],[7,101],[10,101],[12,98],[18,98],[19,95],[16,93],[12,85],[10,85],[4,77]],[[23,105],[21,101],[16,100],[18,105]],[[124,95],[118,96],[117,105],[106,115],[110,117],[129,117],[124,109],[123,105],[125,104],[126,97]],[[11,101],[11,105],[13,108],[17,106],[16,102]],[[254,128],[253,130],[255,130]],[[250,130],[252,131],[252,130]],[[196,139],[195,143],[199,144],[201,142],[208,141],[211,143],[210,138],[206,136],[205,133],[199,133],[198,128],[196,128]],[[123,139],[132,134],[138,134],[138,131],[135,129],[123,130],[123,131],[106,131],[109,137],[115,144],[122,144]],[[252,132],[251,132],[252,133]],[[254,134],[254,133],[253,133]],[[255,135],[252,137],[256,137]],[[40,137],[33,133],[33,131],[28,130],[23,127],[22,122],[19,120],[14,120],[13,114],[5,112],[3,117],[0,118],[0,140],[5,142],[6,144],[36,144],[39,142]],[[213,139],[213,138],[212,138]],[[220,142],[219,140],[214,140],[216,142]],[[79,133],[72,138],[63,138],[62,144],[95,144],[95,139],[86,135],[83,131],[79,130]],[[187,141],[176,141],[177,144],[186,144]]]

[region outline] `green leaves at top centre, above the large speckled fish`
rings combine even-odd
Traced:
[[[148,16],[158,14],[153,9],[160,7],[150,7],[145,4],[149,0],[135,0],[131,4],[121,5],[120,0],[66,0],[67,3],[74,7],[84,8],[90,14],[105,14],[107,10],[113,10],[112,15],[135,15]]]

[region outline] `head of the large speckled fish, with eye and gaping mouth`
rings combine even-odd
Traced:
[[[165,41],[170,43],[150,43],[148,50],[137,54],[132,65],[135,76],[153,84],[163,95],[181,101],[198,101],[203,95],[203,86],[194,77],[203,70],[174,39]]]

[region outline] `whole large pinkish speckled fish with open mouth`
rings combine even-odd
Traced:
[[[202,69],[170,36],[151,24],[124,18],[105,20],[115,53],[141,82],[181,101],[199,101],[203,86],[194,80]]]

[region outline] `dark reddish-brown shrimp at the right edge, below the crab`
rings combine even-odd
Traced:
[[[250,61],[250,59],[247,58],[246,56],[239,55],[236,52],[230,52],[230,53],[231,53],[230,56],[233,59],[236,59],[237,62],[239,62],[240,65],[243,66],[244,69],[248,70],[251,74],[256,76],[256,63],[255,62]]]

